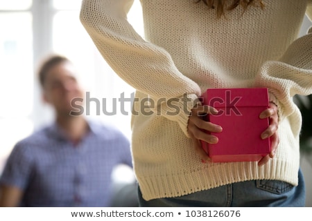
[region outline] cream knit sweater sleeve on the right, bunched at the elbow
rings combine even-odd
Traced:
[[[311,18],[311,4],[306,10]],[[266,61],[256,77],[257,87],[269,90],[278,106],[279,120],[295,111],[293,96],[312,94],[312,33],[293,41],[277,61]]]

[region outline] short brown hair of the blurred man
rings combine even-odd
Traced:
[[[49,73],[49,70],[51,70],[53,67],[57,66],[58,64],[61,64],[62,62],[71,62],[67,57],[64,57],[62,55],[50,55],[48,58],[46,58],[39,70],[38,70],[38,77],[40,81],[40,85],[42,88],[44,88],[44,83],[46,81],[46,75]]]

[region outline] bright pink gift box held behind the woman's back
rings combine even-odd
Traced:
[[[270,153],[270,138],[261,139],[268,118],[259,118],[269,107],[267,88],[208,89],[202,95],[202,104],[218,110],[217,115],[205,119],[223,128],[221,133],[211,133],[218,137],[217,144],[202,141],[212,162],[259,161]]]

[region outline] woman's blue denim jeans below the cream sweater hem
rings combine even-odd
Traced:
[[[227,184],[207,191],[199,191],[176,198],[146,201],[139,189],[139,206],[151,207],[252,207],[252,206],[305,206],[305,187],[302,171],[299,184],[293,186],[279,180],[251,180]]]

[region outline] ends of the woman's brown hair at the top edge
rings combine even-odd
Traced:
[[[221,17],[225,10],[233,10],[237,6],[242,6],[244,9],[248,6],[264,7],[262,0],[197,0],[196,3],[200,1],[203,1],[209,8],[215,8],[218,17]],[[228,3],[229,1],[232,1],[232,3]]]

